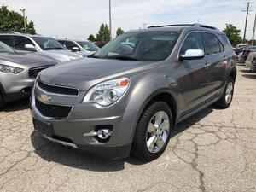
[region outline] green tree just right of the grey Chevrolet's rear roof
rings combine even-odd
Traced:
[[[226,24],[226,27],[224,28],[223,32],[230,39],[230,44],[232,44],[232,46],[235,47],[236,44],[241,44],[242,42],[242,38],[240,36],[241,30],[238,29],[236,26],[233,26],[232,24]]]

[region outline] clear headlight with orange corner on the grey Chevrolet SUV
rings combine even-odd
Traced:
[[[125,94],[129,84],[130,80],[127,78],[114,79],[96,84],[84,96],[83,102],[96,102],[99,105],[108,106]]]

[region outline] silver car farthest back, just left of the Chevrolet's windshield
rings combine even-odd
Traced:
[[[83,56],[92,55],[96,53],[98,49],[100,49],[89,41],[58,39],[58,42],[65,46],[67,49],[79,53]]]

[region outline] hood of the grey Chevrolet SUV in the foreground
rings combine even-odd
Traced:
[[[47,84],[76,87],[88,90],[102,81],[129,77],[131,73],[139,73],[156,67],[155,62],[119,61],[108,59],[84,58],[70,61],[67,64],[50,67],[40,73],[39,80]]]

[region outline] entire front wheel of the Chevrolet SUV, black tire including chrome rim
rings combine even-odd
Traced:
[[[159,125],[158,128],[156,125]],[[157,159],[166,149],[172,126],[172,112],[166,102],[154,102],[143,112],[138,121],[131,155],[143,161]]]

